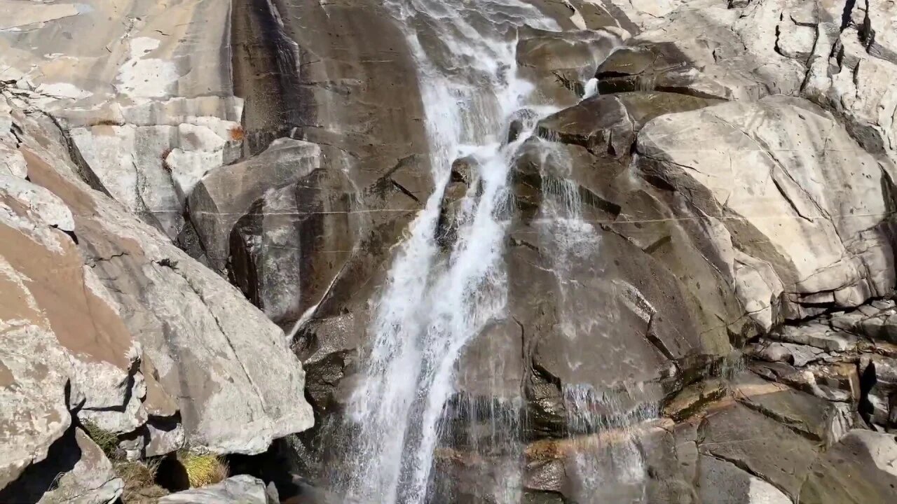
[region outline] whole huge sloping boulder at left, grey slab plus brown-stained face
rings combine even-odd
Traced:
[[[0,393],[13,406],[0,424],[14,448],[4,450],[3,485],[20,475],[16,484],[31,484],[41,471],[22,471],[42,467],[57,439],[95,454],[83,432],[69,430],[75,414],[118,436],[128,456],[185,445],[258,453],[308,429],[304,374],[283,331],[88,187],[48,117],[15,104],[5,117],[14,141],[0,140],[22,156],[28,180],[0,175]],[[103,464],[93,459],[78,464]],[[62,482],[73,478],[59,488],[87,481]]]

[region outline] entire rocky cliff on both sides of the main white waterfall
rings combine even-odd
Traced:
[[[893,500],[897,7],[527,4],[560,31],[458,7],[553,111],[490,125],[507,309],[454,363],[431,499]],[[327,489],[442,191],[415,51],[450,64],[447,34],[372,0],[0,11],[0,500],[118,499],[88,424],[131,458],[308,430],[277,471]],[[438,261],[483,169],[457,153]],[[263,473],[161,502],[272,502]]]

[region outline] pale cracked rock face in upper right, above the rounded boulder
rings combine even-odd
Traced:
[[[658,89],[735,100],[803,96],[841,117],[876,158],[895,161],[892,2],[605,5],[640,30],[598,68],[600,90]]]

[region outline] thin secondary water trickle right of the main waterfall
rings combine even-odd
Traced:
[[[544,141],[540,141],[539,152],[543,187],[540,242],[549,251],[558,283],[559,330],[564,337],[576,339],[594,334],[596,320],[588,310],[577,307],[576,300],[586,292],[573,265],[596,263],[601,239],[582,214],[579,186],[570,180],[568,152],[557,143]],[[611,305],[603,315],[604,323],[614,323]],[[584,363],[581,359],[588,358],[570,356],[568,365],[577,369]],[[567,469],[574,482],[571,497],[578,502],[645,502],[648,472],[633,426],[655,417],[654,405],[624,404],[631,403],[627,390],[599,391],[586,384],[566,385],[562,394],[568,435],[576,447]]]

